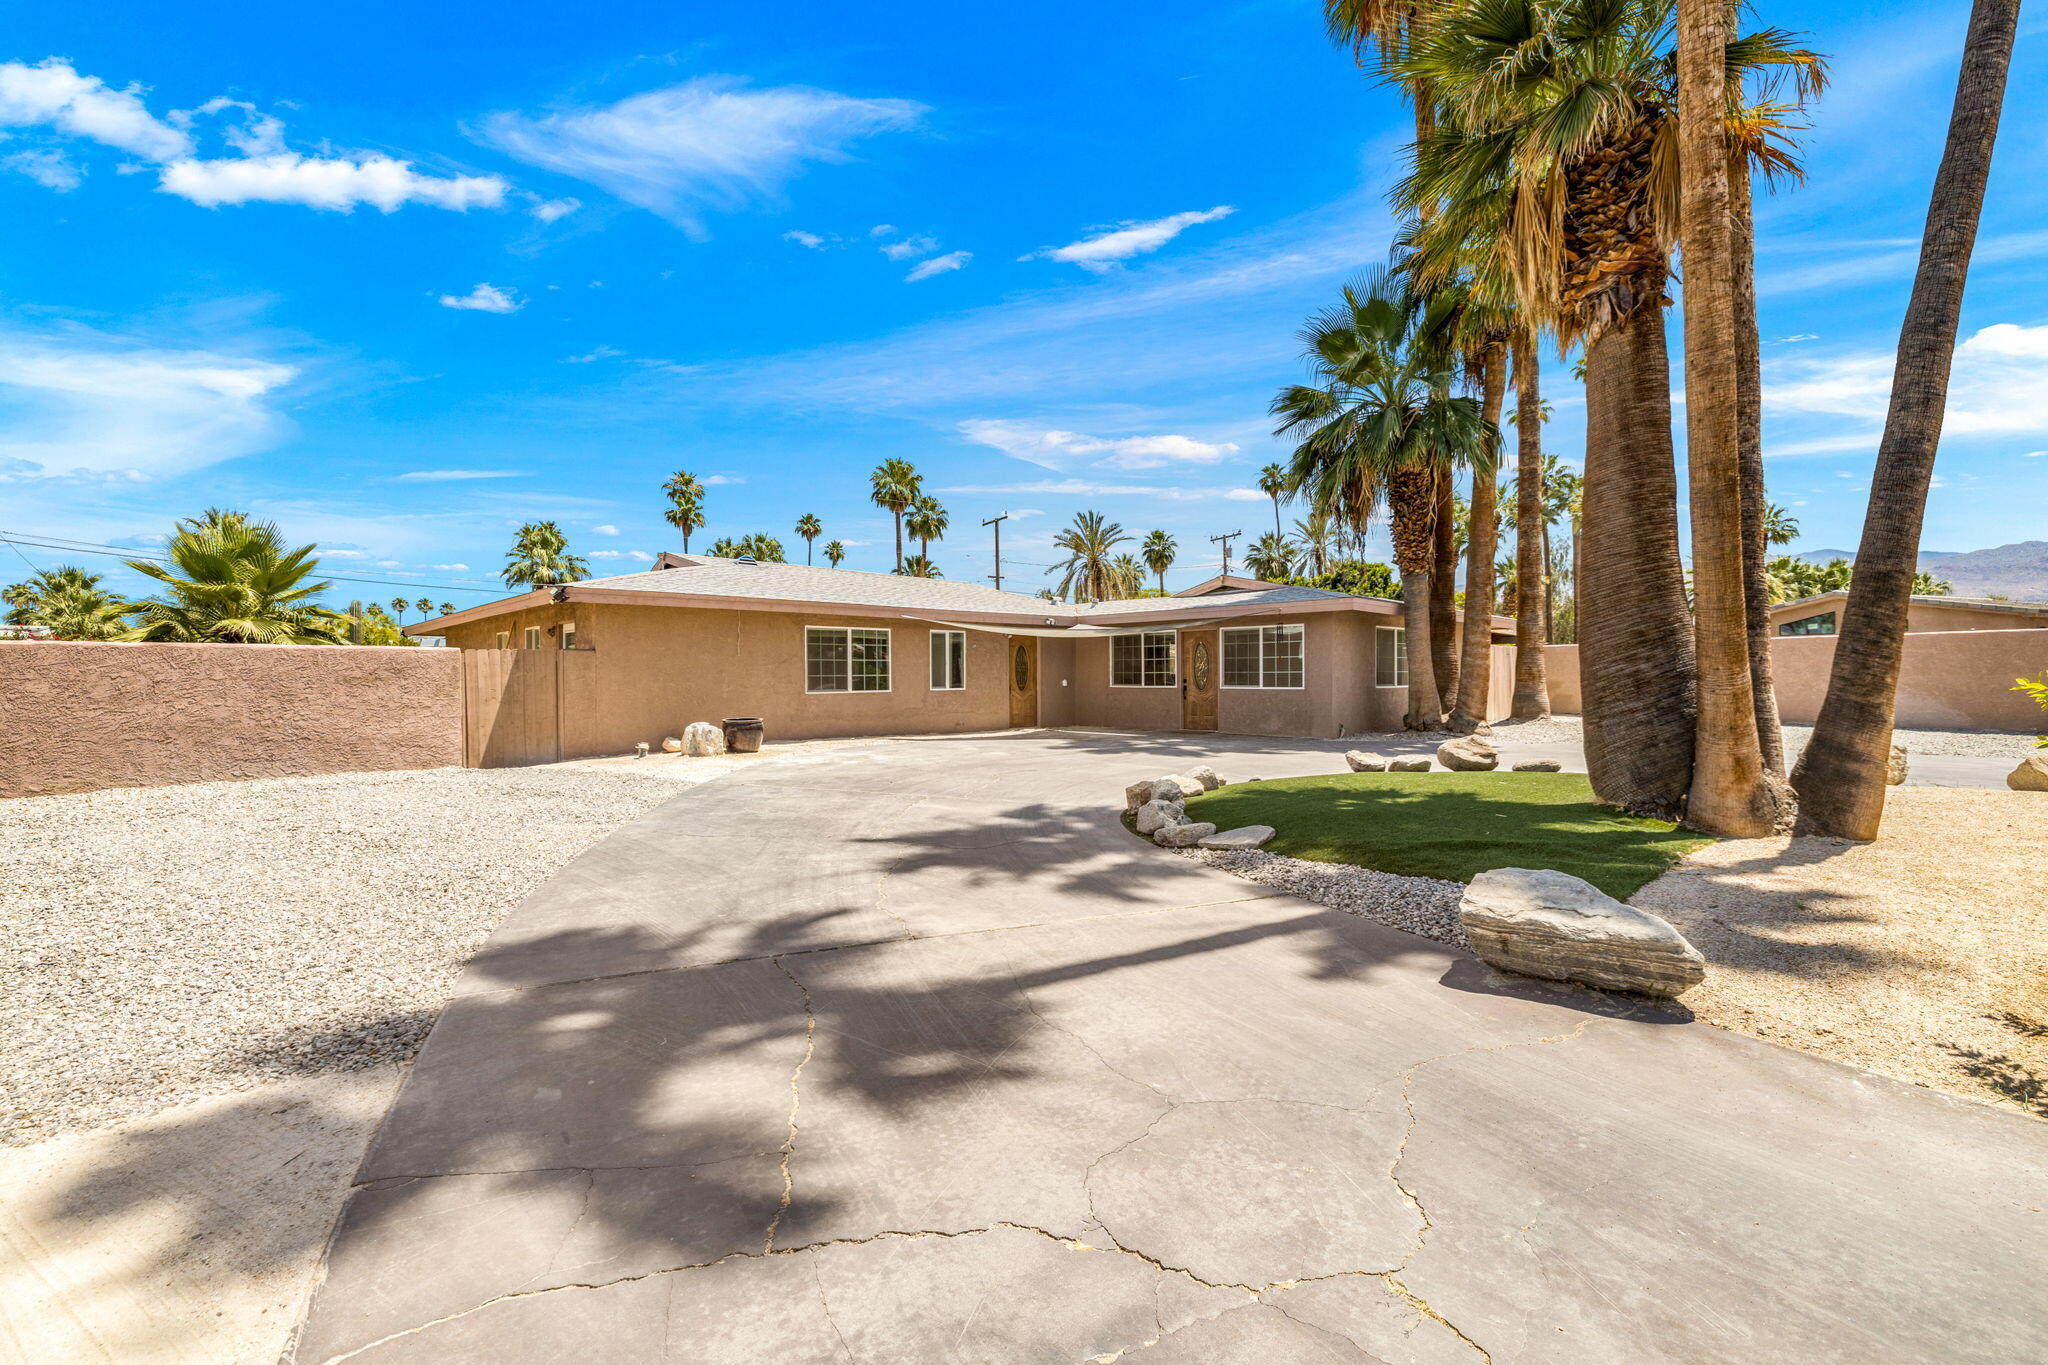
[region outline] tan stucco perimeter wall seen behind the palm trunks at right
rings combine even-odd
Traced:
[[[1833,634],[1778,636],[1772,675],[1778,679],[1778,714],[1792,724],[1812,724],[1835,667]],[[1579,647],[1544,651],[1550,671],[1550,710],[1579,710]],[[2013,692],[2015,677],[2048,671],[2048,630],[1925,630],[1907,634],[1898,665],[1894,724],[1917,731],[2040,731],[2042,710]]]

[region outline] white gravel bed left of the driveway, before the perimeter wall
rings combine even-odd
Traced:
[[[676,792],[561,765],[0,802],[0,1144],[408,1060],[506,911]]]

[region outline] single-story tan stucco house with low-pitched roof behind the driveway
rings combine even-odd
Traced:
[[[1491,628],[1513,639],[1505,616]],[[1399,602],[1235,575],[1171,598],[1065,604],[662,555],[645,573],[541,587],[406,632],[510,651],[475,661],[498,681],[471,677],[473,710],[500,704],[522,651],[551,651],[551,681],[528,679],[551,692],[522,706],[553,708],[555,741],[532,751],[559,757],[725,716],[762,716],[770,739],[1034,724],[1341,737],[1399,731],[1407,710]],[[1505,696],[1511,679],[1497,681]]]

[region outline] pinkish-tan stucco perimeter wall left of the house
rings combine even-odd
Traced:
[[[453,649],[0,645],[0,796],[461,761]]]

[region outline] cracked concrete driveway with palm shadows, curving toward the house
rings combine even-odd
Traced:
[[[295,1359],[2048,1357],[2048,1126],[1114,821],[1341,749],[879,741],[686,790],[469,968]]]

